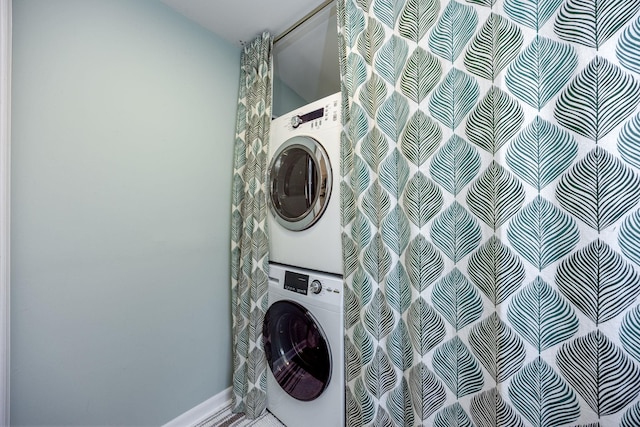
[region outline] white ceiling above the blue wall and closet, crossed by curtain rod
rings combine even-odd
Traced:
[[[263,31],[278,37],[324,0],[162,0],[223,39],[241,46]],[[277,41],[274,72],[306,102],[340,90],[335,2]],[[274,99],[274,103],[277,99]]]

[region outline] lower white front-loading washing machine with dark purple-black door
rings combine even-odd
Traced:
[[[342,277],[269,266],[267,408],[287,427],[344,426]]]

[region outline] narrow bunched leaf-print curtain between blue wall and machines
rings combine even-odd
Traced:
[[[267,152],[272,46],[268,33],[242,52],[231,206],[233,411],[258,417],[266,406],[262,321],[267,309]]]

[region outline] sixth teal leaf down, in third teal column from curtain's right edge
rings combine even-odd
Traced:
[[[478,361],[458,336],[433,353],[433,370],[459,399],[482,390],[484,378]]]

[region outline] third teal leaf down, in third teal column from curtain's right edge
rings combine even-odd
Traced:
[[[435,182],[457,196],[480,171],[480,154],[454,134],[433,156],[429,171]]]

